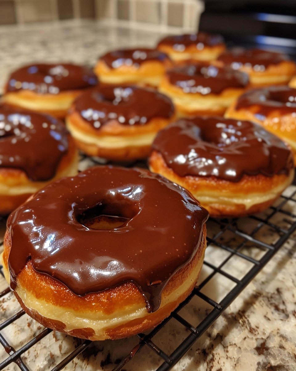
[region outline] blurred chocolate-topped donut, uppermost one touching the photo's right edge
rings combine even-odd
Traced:
[[[289,56],[267,50],[235,47],[221,54],[218,61],[248,73],[252,86],[285,84],[296,73],[296,64]]]

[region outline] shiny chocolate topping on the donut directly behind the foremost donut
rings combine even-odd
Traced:
[[[96,129],[114,119],[122,125],[145,125],[152,118],[169,118],[174,114],[167,96],[135,86],[91,89],[75,100],[74,109]]]

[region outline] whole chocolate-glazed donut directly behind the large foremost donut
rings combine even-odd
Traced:
[[[173,117],[171,100],[154,90],[101,86],[76,99],[66,123],[86,154],[124,161],[147,157]]]

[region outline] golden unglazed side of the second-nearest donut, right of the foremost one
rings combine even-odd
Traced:
[[[180,177],[169,168],[159,152],[152,151],[149,169],[161,174],[172,182],[181,185],[209,211],[212,217],[238,217],[259,213],[273,204],[294,178],[285,174],[272,178],[263,175],[244,175],[239,182],[231,182],[215,177]]]

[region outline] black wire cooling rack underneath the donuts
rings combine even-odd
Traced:
[[[80,170],[98,163],[101,162],[96,158],[82,157]],[[141,162],[136,165],[145,167],[145,164]],[[114,341],[115,348],[121,347],[126,341],[127,346],[125,344],[125,348],[127,350],[125,355],[113,361],[113,371],[119,371],[127,367],[128,362],[132,361],[135,354],[140,354],[142,358],[145,358],[147,350],[152,351],[154,356],[158,358],[158,366],[155,370],[169,370],[175,365],[295,232],[295,203],[296,187],[291,185],[276,203],[264,213],[240,219],[209,219],[207,223],[208,247],[198,286],[168,318],[151,332],[138,334],[133,338],[133,342],[128,339],[118,341],[118,343]],[[2,223],[4,223],[4,220]],[[3,276],[2,270],[0,270],[0,273]],[[215,282],[214,289],[213,282]],[[5,302],[8,297],[13,297],[13,294],[7,287],[0,293],[0,301]],[[7,301],[9,300],[7,299]],[[206,307],[207,309],[202,315],[198,315],[196,318],[191,316],[188,319],[188,312],[197,307]],[[9,326],[15,324],[14,331],[17,334],[19,328],[32,326],[31,322],[22,321],[23,316],[27,315],[21,310],[20,306],[16,307],[7,318],[4,316],[4,321],[0,325],[0,343],[5,349],[5,351],[2,349],[4,356],[2,355],[2,358],[0,358],[0,370],[9,365],[13,365],[13,368],[7,368],[7,370],[37,370],[32,364],[27,365],[29,358],[27,353],[43,342],[52,330],[37,326],[36,331],[26,341],[21,341],[20,344],[15,339],[10,341],[5,335]],[[168,352],[164,347],[158,345],[158,339],[162,336],[167,344],[176,343],[175,338],[172,339],[172,336],[176,335],[170,334],[170,331],[168,331],[172,321],[174,321],[174,326],[177,323],[182,331],[178,331],[179,344]],[[37,324],[35,321],[34,323]],[[55,341],[59,341],[58,335],[54,336]],[[69,366],[80,354],[84,354],[84,361],[87,362],[89,357],[95,357],[99,351],[100,345],[96,347],[94,344],[102,343],[72,339],[73,347],[64,357],[61,357],[60,354],[55,356],[52,348],[47,349],[48,359],[54,361],[58,359],[58,362],[56,364],[49,362],[50,367],[43,368],[44,370],[62,370],[67,365]],[[61,351],[61,346],[59,350]],[[104,368],[106,364],[110,364],[111,358],[114,357],[108,353],[107,358],[101,361],[101,367]],[[68,369],[71,370],[71,368]]]

